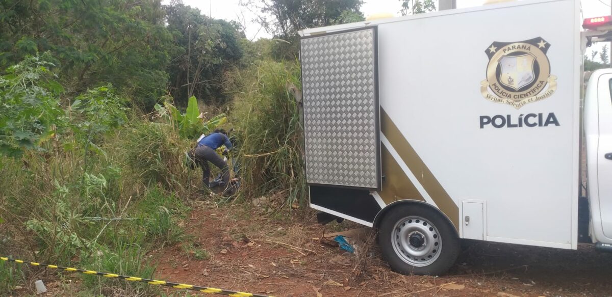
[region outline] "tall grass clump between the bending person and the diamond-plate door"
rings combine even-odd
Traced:
[[[287,205],[302,202],[305,178],[299,106],[287,85],[300,87],[299,65],[272,61],[238,73],[231,122],[240,141],[242,195],[285,191]]]

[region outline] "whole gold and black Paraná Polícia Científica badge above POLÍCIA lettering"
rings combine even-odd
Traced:
[[[546,56],[550,43],[538,37],[523,42],[493,42],[485,50],[489,58],[487,79],[480,92],[489,101],[519,109],[527,103],[551,97],[557,77],[550,75]]]

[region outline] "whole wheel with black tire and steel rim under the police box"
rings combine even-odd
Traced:
[[[400,241],[400,239],[392,239],[392,237],[400,238],[399,234],[402,227],[401,225],[398,225],[398,228],[396,229],[396,224],[400,224],[400,222],[408,222],[406,221],[407,219],[415,217],[424,219],[421,220],[422,224],[425,224],[428,221],[430,223],[430,227],[435,227],[435,232],[432,232],[434,233],[434,235],[431,238],[439,238],[439,248],[430,250],[430,254],[439,251],[438,254],[435,254],[435,257],[433,257],[432,260],[426,260],[423,263],[417,263],[416,266],[411,265],[411,263],[407,262],[412,261],[412,259],[409,259],[410,257],[412,257],[411,255],[409,255],[408,253],[401,255],[399,254],[400,251],[396,252],[396,249],[394,248],[394,242],[395,244],[397,244],[398,247],[400,247],[401,244],[398,242]],[[383,257],[387,260],[387,263],[389,263],[389,266],[391,266],[391,269],[393,271],[407,275],[418,274],[438,276],[446,273],[457,260],[457,257],[461,251],[461,244],[457,232],[455,231],[455,227],[452,226],[448,219],[446,219],[441,213],[439,213],[438,210],[435,210],[432,207],[428,207],[427,205],[402,204],[397,205],[396,207],[389,210],[389,212],[384,215],[382,220],[383,221],[381,221],[378,230],[378,242],[381,247],[381,250],[383,251]],[[415,222],[416,221],[417,220],[415,219]],[[411,224],[414,223],[411,222]],[[431,228],[428,227],[428,229]],[[417,237],[420,237],[420,235],[417,235]],[[412,244],[412,241],[408,240],[408,242]],[[417,244],[419,244],[418,240]],[[435,244],[436,246],[438,246],[437,242]],[[424,244],[423,248],[425,248],[425,246],[426,244]],[[410,246],[409,248],[414,247],[415,246]],[[421,247],[417,246],[416,248]],[[403,252],[403,249],[401,249],[401,251]],[[406,259],[406,257],[408,257],[409,260],[404,260]],[[414,258],[414,260],[418,262],[420,259]]]

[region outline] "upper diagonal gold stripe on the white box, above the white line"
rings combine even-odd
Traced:
[[[412,145],[404,138],[387,112],[382,108],[380,112],[381,131],[383,131],[384,136],[389,140],[398,155],[400,155],[401,160],[412,171],[412,174],[419,180],[427,194],[431,196],[433,202],[436,202],[442,213],[448,216],[450,222],[459,230],[459,207],[457,207],[457,204],[450,198],[449,193],[446,192],[444,187],[438,182],[438,179],[431,173],[427,164],[420,158],[416,150],[412,148]]]

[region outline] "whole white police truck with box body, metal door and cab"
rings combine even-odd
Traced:
[[[581,111],[584,48],[610,24],[581,32],[580,1],[532,0],[300,32],[319,221],[376,227],[405,274],[444,273],[460,238],[610,249],[611,70]]]

